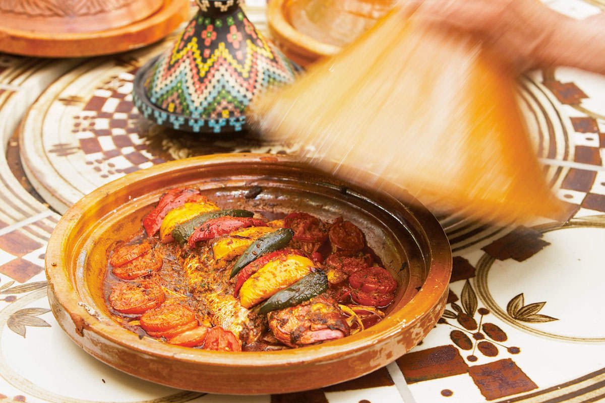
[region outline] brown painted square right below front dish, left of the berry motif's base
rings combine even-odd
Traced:
[[[468,370],[458,349],[451,344],[407,353],[396,362],[408,383],[460,375]]]

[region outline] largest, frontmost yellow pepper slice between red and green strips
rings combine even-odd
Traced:
[[[315,265],[311,260],[295,254],[267,263],[241,286],[241,305],[244,308],[252,308],[302,279],[309,274],[309,268],[313,266]]]

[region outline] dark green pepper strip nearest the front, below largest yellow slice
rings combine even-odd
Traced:
[[[319,294],[323,294],[328,289],[328,277],[321,270],[310,272],[302,277],[298,282],[276,292],[259,309],[259,314],[266,314],[278,309],[290,308],[304,301],[308,301]]]

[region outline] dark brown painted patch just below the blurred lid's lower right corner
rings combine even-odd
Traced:
[[[498,260],[512,257],[517,262],[523,262],[550,245],[541,238],[542,234],[538,231],[522,226],[483,247],[482,250]]]

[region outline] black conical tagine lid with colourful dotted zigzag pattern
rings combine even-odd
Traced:
[[[246,18],[236,0],[197,0],[174,45],[139,69],[134,103],[157,124],[199,133],[244,129],[252,98],[293,81],[298,66]]]

